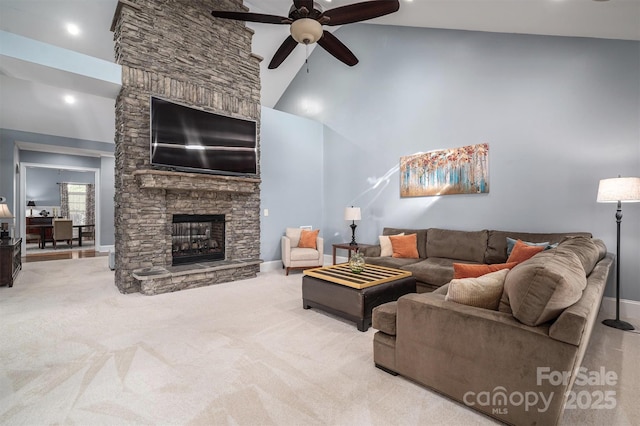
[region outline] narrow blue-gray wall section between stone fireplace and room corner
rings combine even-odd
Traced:
[[[287,227],[322,232],[322,124],[262,108],[260,119],[260,257],[281,259]],[[264,210],[269,215],[264,216]]]

